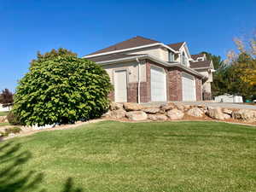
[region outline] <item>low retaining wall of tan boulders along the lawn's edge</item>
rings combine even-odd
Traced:
[[[247,109],[213,108],[202,105],[184,105],[183,103],[169,102],[159,107],[148,107],[132,102],[112,102],[108,113],[103,118],[139,120],[177,120],[177,119],[218,119],[236,120],[247,123],[256,123],[256,111]]]

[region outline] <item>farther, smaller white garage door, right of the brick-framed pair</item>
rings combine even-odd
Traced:
[[[183,101],[195,101],[195,79],[193,76],[183,73]]]

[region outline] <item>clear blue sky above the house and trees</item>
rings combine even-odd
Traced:
[[[0,0],[0,90],[15,90],[40,50],[89,54],[137,35],[224,57],[256,29],[255,0]]]

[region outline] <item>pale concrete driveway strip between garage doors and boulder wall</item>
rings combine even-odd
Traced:
[[[160,106],[166,102],[150,102],[144,103],[146,106]],[[232,102],[180,102],[187,105],[205,105],[210,107],[220,107],[220,108],[241,108],[241,109],[253,109],[256,110],[256,105],[247,105],[241,103],[232,103]]]

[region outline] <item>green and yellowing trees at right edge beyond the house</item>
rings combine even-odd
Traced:
[[[253,39],[243,42],[235,38],[237,53],[230,51],[226,61],[204,52],[208,59],[212,59],[216,69],[213,73],[213,96],[224,93],[241,95],[244,99],[256,96],[256,41]]]

